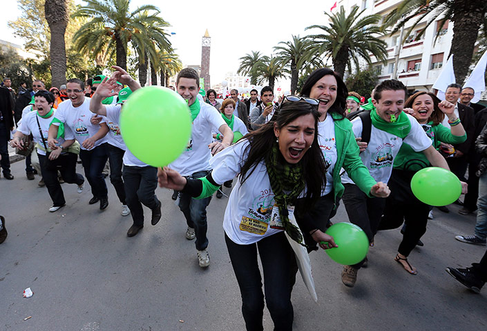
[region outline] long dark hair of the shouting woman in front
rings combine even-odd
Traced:
[[[318,144],[318,119],[320,113],[317,106],[312,106],[305,101],[285,101],[280,108],[274,113],[272,119],[249,134],[244,139],[249,141],[249,146],[245,149],[244,155],[247,154],[242,169],[240,170],[240,183],[244,183],[256,169],[256,165],[265,159],[265,156],[271,152],[271,148],[276,143],[274,135],[274,123],[277,128],[283,128],[295,119],[307,114],[314,117],[314,140],[311,147],[305,152],[300,163],[303,165],[303,177],[306,184],[306,197],[310,204],[314,203],[321,197],[321,191],[325,187],[325,173],[327,165],[323,159],[323,152]],[[307,202],[308,202],[307,201]]]

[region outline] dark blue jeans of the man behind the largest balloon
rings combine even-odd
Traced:
[[[205,177],[207,174],[208,171],[198,171],[190,177],[192,179],[198,179]],[[211,197],[194,199],[191,195],[180,192],[179,208],[184,214],[189,228],[195,229],[195,246],[197,250],[204,250],[208,246],[207,206],[210,204],[210,201]]]

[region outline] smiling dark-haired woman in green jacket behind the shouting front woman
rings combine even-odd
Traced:
[[[326,171],[326,185],[318,203],[306,212],[300,212],[301,208],[296,210],[298,215],[302,215],[298,217],[298,223],[306,220],[300,223],[305,241],[310,250],[316,250],[316,240],[312,239],[330,226],[330,219],[336,214],[338,202],[345,190],[341,183],[341,168],[347,171],[367,197],[388,197],[390,190],[384,183],[376,183],[359,157],[352,123],[344,116],[347,87],[341,77],[328,68],[316,69],[306,79],[301,95],[320,102],[318,142],[325,161],[330,164]]]

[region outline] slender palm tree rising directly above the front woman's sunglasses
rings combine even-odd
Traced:
[[[296,92],[298,86],[299,73],[309,63],[314,65],[321,63],[319,54],[314,50],[312,39],[292,36],[291,41],[280,41],[283,46],[274,47],[274,51],[283,67],[289,66],[287,71],[291,74],[291,93]]]

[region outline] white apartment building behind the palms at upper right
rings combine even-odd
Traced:
[[[351,8],[359,6],[360,10],[365,9],[364,14],[380,14],[382,22],[401,2],[401,0],[338,0],[337,7],[343,6],[347,12],[350,12]],[[423,19],[413,32],[406,36],[413,22],[414,19],[410,20],[403,29],[403,38],[406,40],[402,46],[400,30],[381,38],[388,45],[388,61],[384,65],[372,57],[372,66],[379,72],[381,80],[399,79],[409,90],[430,90],[441,72],[443,63],[448,59],[453,26],[452,22],[448,21],[444,26],[439,26],[439,21],[435,21],[428,26],[421,37],[418,37],[419,31],[426,26],[426,19]],[[437,30],[441,31],[441,35],[435,41]]]

